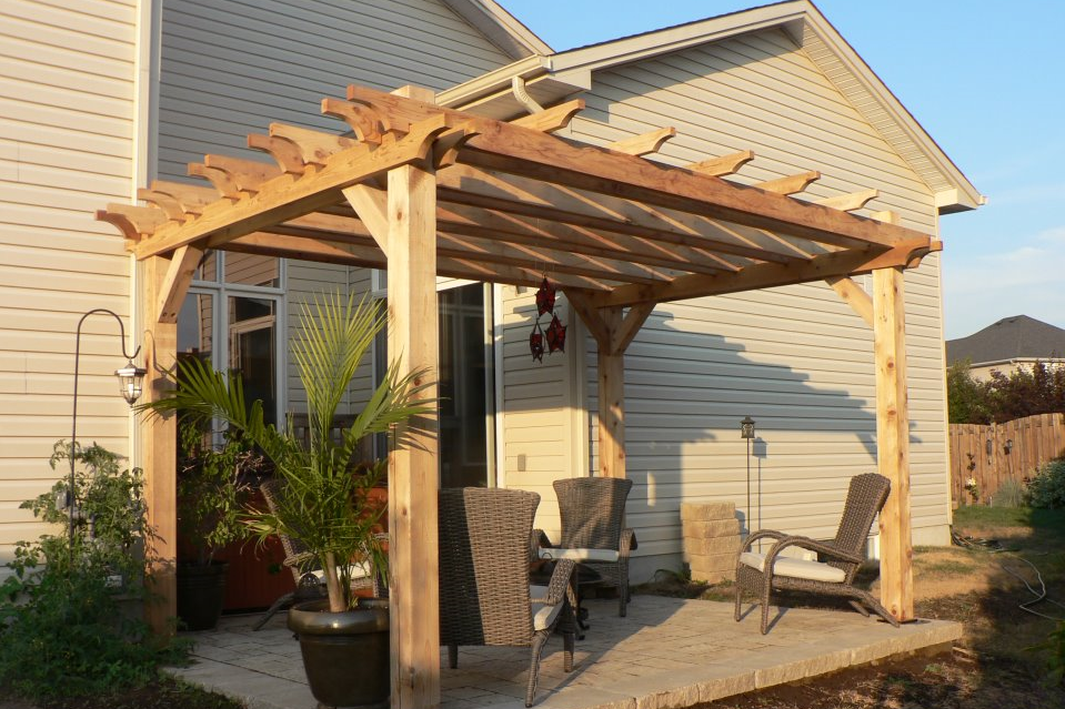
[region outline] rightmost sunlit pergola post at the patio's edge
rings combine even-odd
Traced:
[[[881,512],[881,601],[912,620],[913,535],[910,516],[910,414],[902,269],[873,271],[873,356],[876,363],[876,459],[891,480]]]

